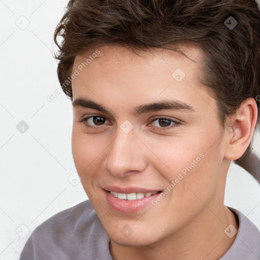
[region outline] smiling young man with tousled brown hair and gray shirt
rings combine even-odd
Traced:
[[[75,0],[58,36],[89,201],[38,226],[20,259],[259,259],[256,226],[223,204],[258,118],[257,4]]]

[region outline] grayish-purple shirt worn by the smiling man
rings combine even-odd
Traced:
[[[260,233],[240,211],[229,208],[239,221],[238,234],[220,260],[260,259]],[[63,210],[30,235],[20,260],[112,260],[109,237],[90,201]]]

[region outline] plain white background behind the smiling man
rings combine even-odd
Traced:
[[[47,100],[59,91],[53,32],[66,3],[0,1],[1,260],[18,259],[36,226],[87,199],[81,183],[74,183],[71,101],[64,93]],[[22,120],[29,126],[24,133],[16,128]],[[260,153],[259,134],[254,149]],[[225,204],[260,229],[259,203],[259,185],[232,165]]]

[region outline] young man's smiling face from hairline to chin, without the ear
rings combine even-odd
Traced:
[[[225,134],[217,103],[199,82],[202,53],[182,48],[198,62],[119,46],[74,62],[75,166],[108,236],[121,245],[163,240],[207,218],[205,204],[223,207]]]

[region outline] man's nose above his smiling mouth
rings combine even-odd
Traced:
[[[119,129],[116,138],[106,149],[103,166],[115,177],[143,172],[148,161],[145,148],[133,130],[125,134]]]

